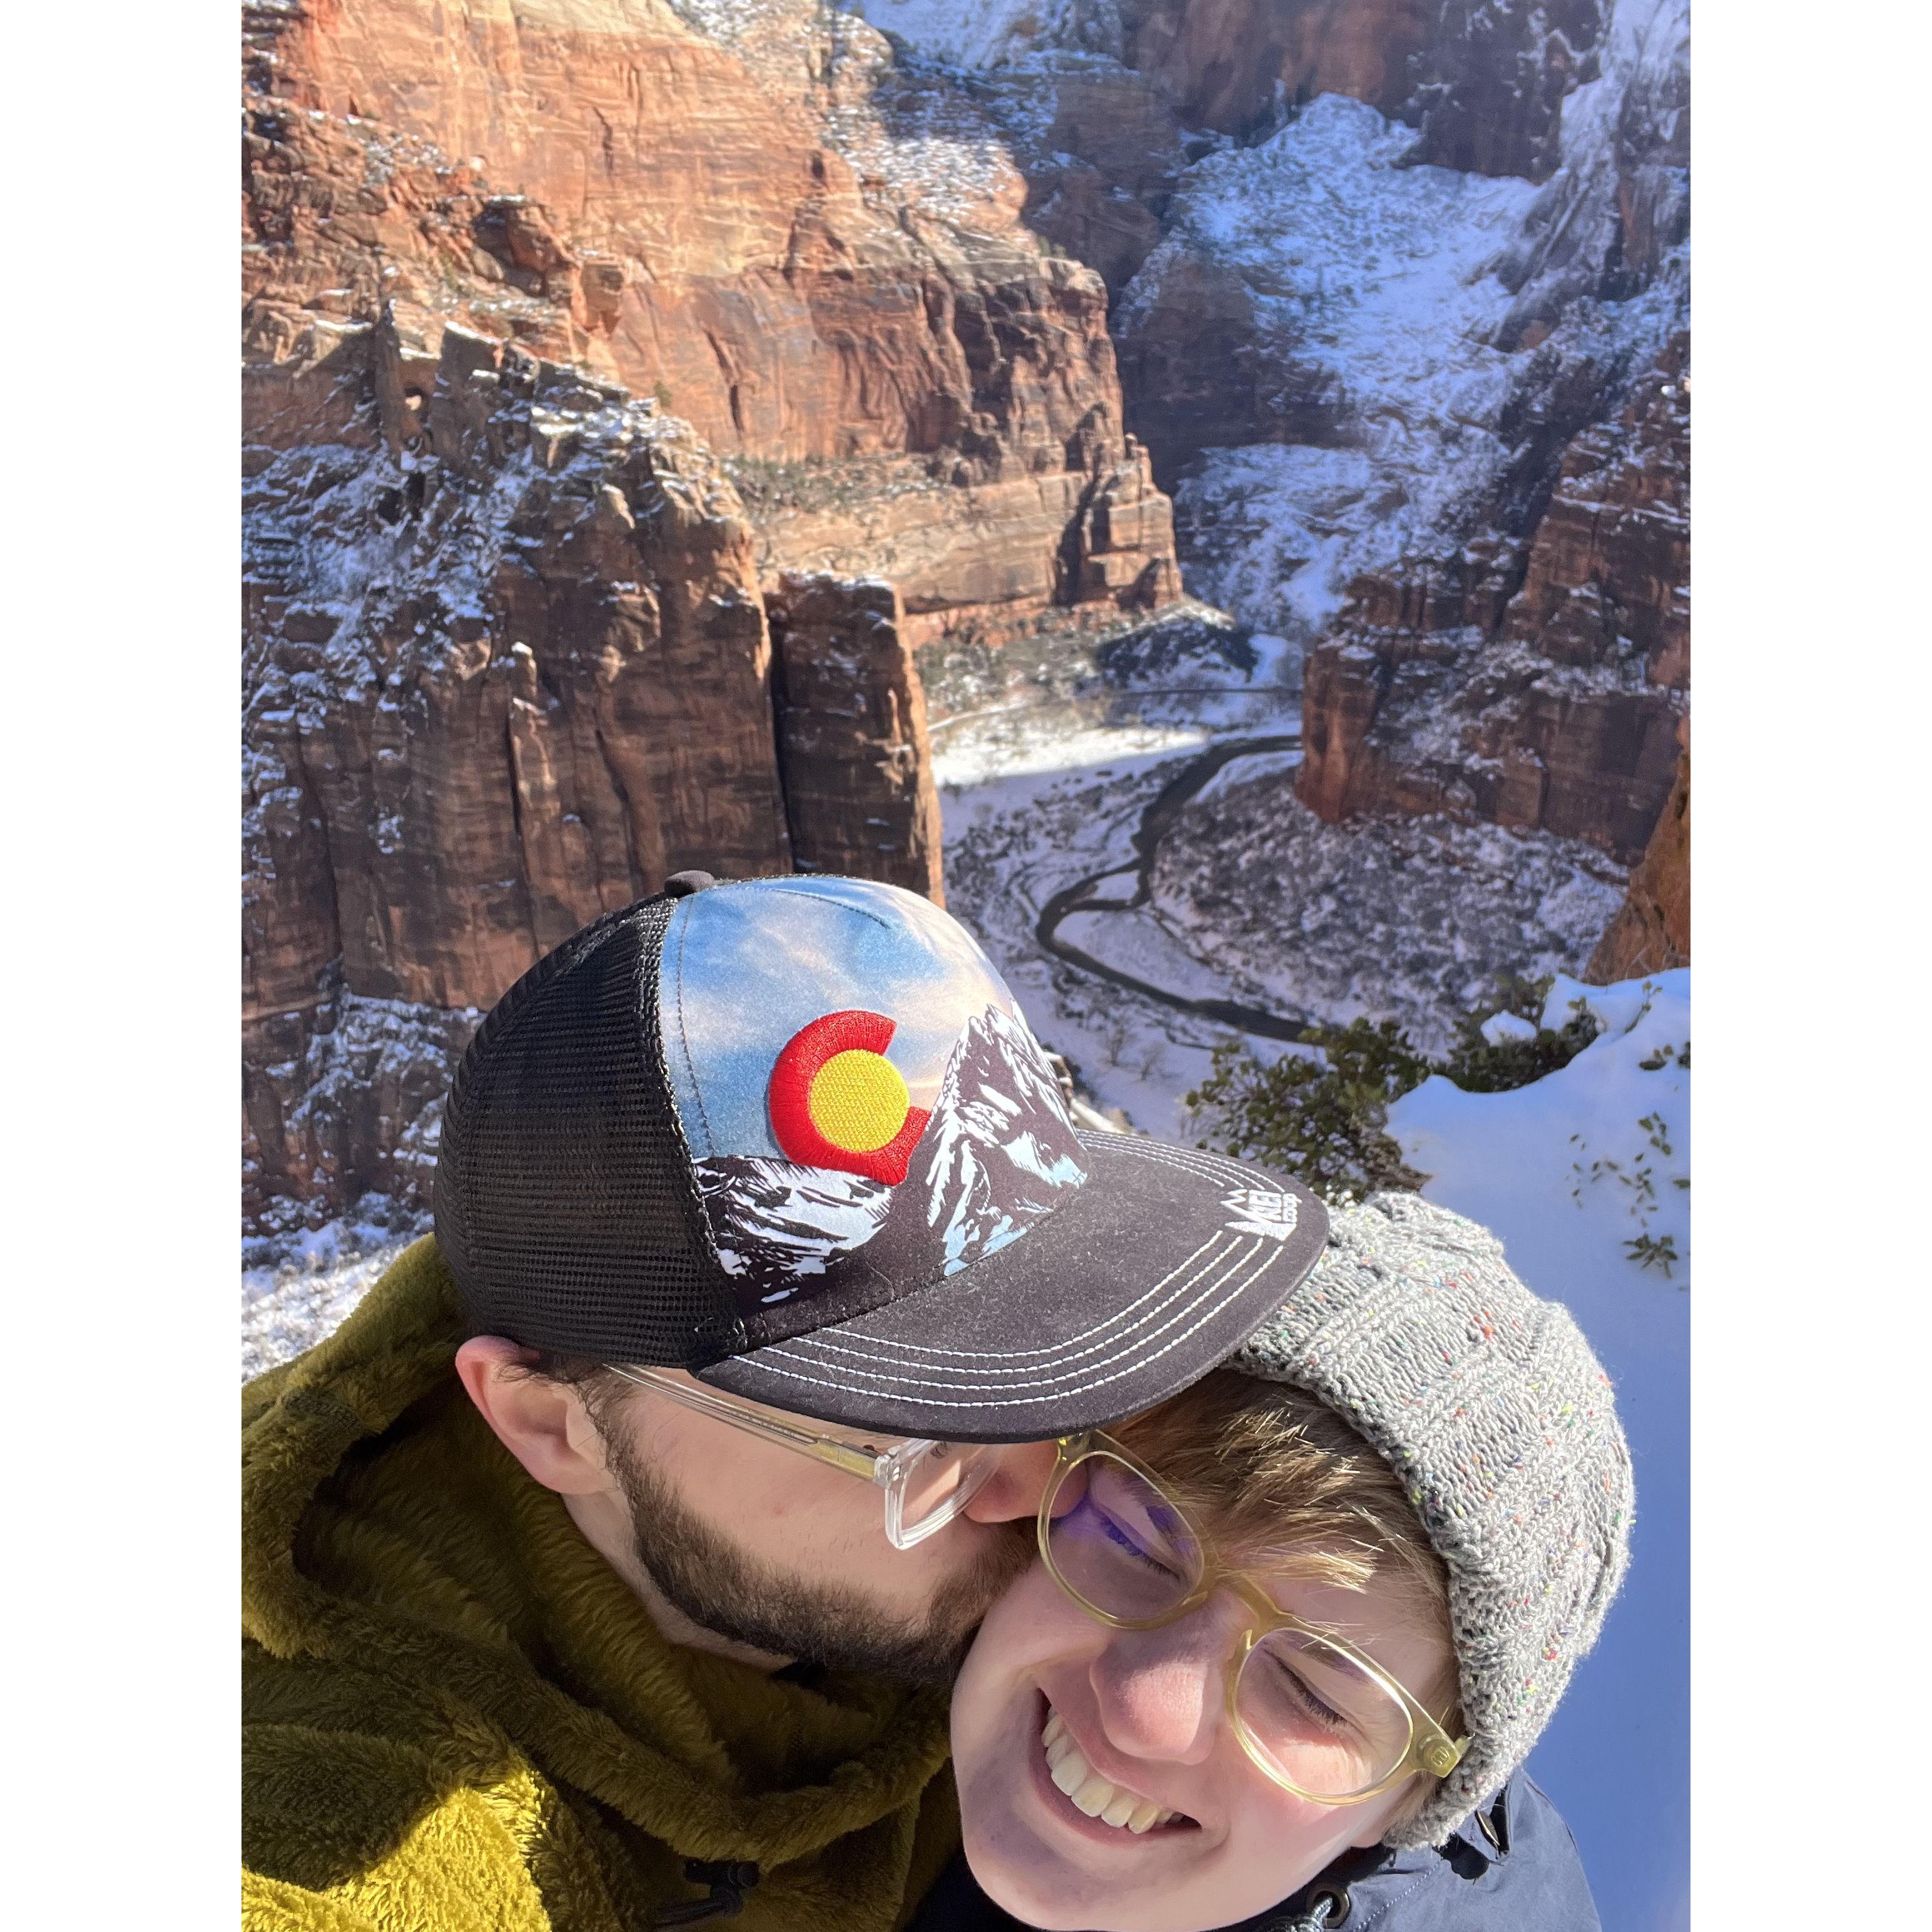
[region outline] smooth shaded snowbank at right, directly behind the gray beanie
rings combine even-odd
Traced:
[[[1557,981],[1604,1034],[1515,1094],[1430,1080],[1389,1109],[1422,1190],[1501,1235],[1617,1387],[1636,1468],[1629,1580],[1530,1758],[1582,1849],[1607,1932],[1690,1922],[1690,974]],[[1669,1240],[1665,1277],[1631,1242]]]

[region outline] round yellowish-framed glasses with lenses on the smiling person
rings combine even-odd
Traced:
[[[1219,1590],[1248,1611],[1227,1669],[1242,1750],[1318,1804],[1360,1804],[1420,1768],[1447,1777],[1468,1739],[1447,1733],[1374,1658],[1277,1609],[1223,1565],[1134,1453],[1099,1432],[1059,1443],[1039,1499],[1047,1575],[1097,1623],[1153,1631]]]

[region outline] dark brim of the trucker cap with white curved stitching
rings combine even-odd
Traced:
[[[1304,1186],[1138,1134],[1080,1134],[1086,1184],[970,1267],[697,1372],[732,1395],[893,1435],[1043,1441],[1167,1401],[1314,1267]],[[1293,1206],[1256,1217],[1246,1196]]]

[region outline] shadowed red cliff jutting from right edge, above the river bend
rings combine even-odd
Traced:
[[[1321,817],[1457,811],[1644,850],[1690,680],[1685,357],[1679,338],[1571,439],[1515,558],[1352,587],[1306,667],[1298,792]]]

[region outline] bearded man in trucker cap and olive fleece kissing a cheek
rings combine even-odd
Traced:
[[[1041,1445],[1225,1360],[1327,1233],[1078,1132],[923,898],[703,873],[504,995],[435,1206],[247,1391],[251,1924],[904,1924]]]

